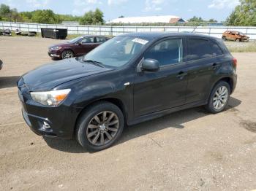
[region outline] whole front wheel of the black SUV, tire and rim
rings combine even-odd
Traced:
[[[104,118],[105,120],[103,120]],[[100,123],[97,122],[98,120]],[[121,136],[123,129],[124,114],[118,106],[102,101],[89,106],[80,116],[76,126],[76,139],[82,147],[90,151],[99,151],[113,145]]]

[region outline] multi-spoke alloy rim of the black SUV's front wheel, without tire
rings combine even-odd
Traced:
[[[108,144],[117,134],[119,120],[114,112],[104,111],[94,115],[86,129],[86,137],[94,146]]]

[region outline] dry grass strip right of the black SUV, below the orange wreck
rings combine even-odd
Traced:
[[[230,52],[256,52],[256,41],[225,42]]]

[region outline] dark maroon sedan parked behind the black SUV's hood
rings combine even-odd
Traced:
[[[48,55],[52,58],[72,58],[84,55],[109,38],[106,36],[79,36],[61,44],[54,44],[49,47]]]

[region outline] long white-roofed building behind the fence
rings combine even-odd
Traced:
[[[149,16],[149,17],[120,17],[107,23],[186,23],[181,17],[174,15]]]

